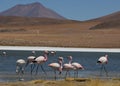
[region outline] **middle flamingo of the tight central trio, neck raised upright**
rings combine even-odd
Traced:
[[[72,66],[72,56],[68,56],[68,59],[69,59],[69,63],[65,63],[63,65],[63,70],[66,70],[65,78],[69,73],[69,71],[74,69],[74,66]]]

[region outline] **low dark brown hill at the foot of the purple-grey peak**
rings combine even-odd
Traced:
[[[39,17],[17,17],[17,16],[0,16],[0,26],[39,26],[39,25],[53,25],[53,24],[66,24],[66,23],[79,23],[75,20],[62,20],[52,18],[39,18]]]

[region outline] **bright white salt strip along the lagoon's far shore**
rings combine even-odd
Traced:
[[[112,52],[120,53],[120,48],[70,48],[40,46],[0,46],[0,50],[35,50],[35,51],[72,51],[72,52]]]

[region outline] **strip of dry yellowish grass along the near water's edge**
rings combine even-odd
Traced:
[[[19,82],[6,82],[0,83],[0,86],[120,86],[120,79],[72,79],[60,81],[46,81],[46,80],[34,80],[34,81],[19,81]]]

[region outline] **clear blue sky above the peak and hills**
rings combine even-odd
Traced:
[[[40,2],[61,16],[89,20],[120,11],[120,0],[0,0],[0,12],[17,4]]]

